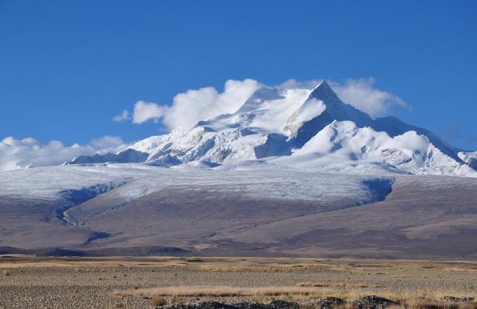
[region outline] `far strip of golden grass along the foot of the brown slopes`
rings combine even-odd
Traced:
[[[333,260],[313,258],[195,258],[195,257],[105,257],[42,258],[36,256],[0,256],[1,268],[18,267],[186,267],[208,272],[303,272],[336,270],[352,272],[388,272],[426,270],[440,272],[477,272],[476,262],[433,262],[412,260]]]

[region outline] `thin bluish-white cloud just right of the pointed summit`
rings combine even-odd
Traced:
[[[370,77],[346,80],[345,84],[330,82],[330,86],[343,102],[355,106],[373,118],[386,115],[393,106],[409,109],[399,96],[374,88],[374,82],[374,78]]]

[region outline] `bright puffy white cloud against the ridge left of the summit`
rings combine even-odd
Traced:
[[[171,106],[138,101],[134,105],[132,122],[140,124],[162,118],[171,130],[177,127],[187,130],[199,120],[234,113],[259,87],[260,84],[255,80],[227,80],[222,93],[214,87],[191,89],[174,96]]]

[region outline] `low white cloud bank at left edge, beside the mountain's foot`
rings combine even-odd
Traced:
[[[0,141],[0,171],[26,167],[60,165],[77,156],[94,153],[116,153],[125,149],[120,137],[105,136],[93,139],[89,144],[65,146],[61,141],[42,144],[36,139],[15,139],[6,137]]]

